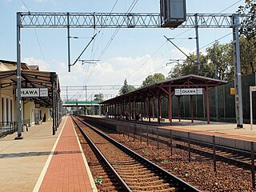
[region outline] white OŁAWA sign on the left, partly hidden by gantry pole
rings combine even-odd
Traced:
[[[17,89],[16,89],[16,93],[17,93]],[[22,98],[48,97],[48,88],[22,88],[21,97]]]

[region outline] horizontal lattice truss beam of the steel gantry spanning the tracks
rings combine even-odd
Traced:
[[[19,13],[22,28],[159,28],[160,14]],[[231,28],[234,14],[186,14],[183,28]],[[197,18],[197,21],[196,21]],[[246,17],[239,16],[242,21]]]

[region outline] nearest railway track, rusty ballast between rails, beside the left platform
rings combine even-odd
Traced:
[[[115,190],[200,191],[82,120],[73,119],[86,141],[94,147],[94,151],[98,151],[96,153],[100,161],[104,162],[98,166],[99,169],[107,167],[105,172],[114,175]]]

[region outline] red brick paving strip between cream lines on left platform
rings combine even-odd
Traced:
[[[39,191],[92,191],[70,117],[66,120]]]

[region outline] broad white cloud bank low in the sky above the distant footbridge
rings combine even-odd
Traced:
[[[186,54],[190,50],[182,48]],[[138,58],[115,57],[105,62],[98,62],[97,65],[84,64],[80,62],[71,66],[71,72],[67,71],[67,64],[64,62],[45,62],[36,58],[24,58],[23,62],[29,65],[38,65],[40,70],[56,71],[59,77],[60,86],[104,86],[123,85],[125,78],[130,85],[141,85],[142,81],[149,74],[162,73],[168,75],[171,67],[166,62],[171,58],[185,58],[178,50],[170,50],[170,53],[162,54],[155,58],[149,54]],[[84,91],[83,91],[84,92]],[[88,90],[88,95],[97,93],[118,94],[118,90]],[[62,93],[66,94],[66,93]],[[83,93],[84,94],[84,93]]]

